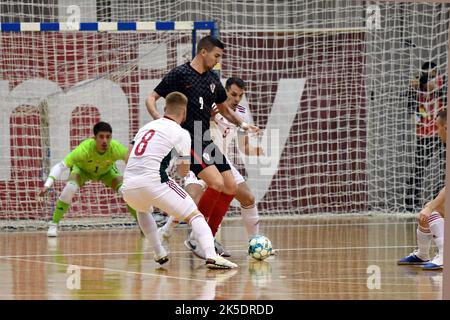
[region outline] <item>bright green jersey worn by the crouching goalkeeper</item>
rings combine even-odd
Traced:
[[[119,141],[112,139],[109,148],[99,153],[93,138],[81,142],[65,158],[67,167],[77,166],[93,177],[100,177],[107,173],[117,160],[125,160],[128,149]]]

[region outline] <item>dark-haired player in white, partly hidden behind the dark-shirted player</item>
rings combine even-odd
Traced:
[[[236,112],[236,114],[246,123],[250,123],[250,115],[244,106],[239,105],[244,92],[245,92],[245,82],[237,77],[229,78],[225,84],[225,89],[228,96],[228,105]],[[239,148],[246,155],[263,155],[264,151],[261,147],[251,146],[249,143],[248,135],[242,134],[239,128],[225,119],[221,114],[216,113],[211,121],[211,137],[214,143],[220,148],[221,152],[227,157],[228,149],[230,143],[236,137],[238,138]],[[239,201],[241,205],[241,216],[244,226],[249,237],[259,234],[259,215],[258,208],[255,204],[255,197],[251,190],[249,189],[245,179],[239,173],[239,171],[233,166],[232,162],[227,157],[227,162],[231,167],[231,172],[233,173],[234,179],[237,184],[237,193],[235,198]],[[202,192],[206,188],[206,184],[203,180],[197,179],[193,172],[185,177],[184,181],[185,190],[191,195],[191,197],[198,201],[201,197]],[[167,248],[168,239],[170,237],[171,229],[176,225],[175,219],[169,218],[168,222],[159,230],[160,237]],[[223,220],[223,216],[211,216],[208,219],[208,225],[211,228],[213,235],[215,236],[220,223]],[[217,253],[223,256],[230,256],[228,252],[225,251],[223,246],[215,241]],[[196,250],[196,245],[193,241],[188,240],[187,246],[198,256],[202,257],[202,253]]]

